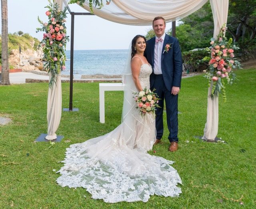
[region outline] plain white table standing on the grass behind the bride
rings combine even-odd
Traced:
[[[105,123],[105,91],[123,91],[122,83],[100,83],[100,123]]]

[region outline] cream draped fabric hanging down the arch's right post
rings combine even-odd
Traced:
[[[227,23],[228,0],[210,0],[214,20],[214,38],[217,38],[220,28]],[[211,97],[212,86],[208,89],[207,118],[203,139],[214,141],[218,134],[219,104],[218,95]]]

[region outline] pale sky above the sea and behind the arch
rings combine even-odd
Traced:
[[[8,0],[8,32],[22,31],[42,40],[43,32],[36,33],[40,27],[37,17],[48,22],[45,14],[48,0]],[[87,12],[77,4],[70,5],[72,12]],[[0,14],[1,16],[1,14]],[[71,32],[71,16],[66,18],[67,35]],[[0,22],[0,25],[2,23]],[[172,23],[166,24],[166,30]],[[146,35],[152,26],[128,26],[104,20],[95,15],[74,17],[74,50],[128,49],[132,38],[138,34]],[[70,50],[70,42],[67,44]]]

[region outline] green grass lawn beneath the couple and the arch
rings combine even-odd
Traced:
[[[219,98],[218,137],[226,144],[194,138],[203,135],[208,82],[202,75],[182,80],[179,149],[167,151],[165,123],[164,143],[153,147],[156,153],[149,152],[176,162],[182,194],[154,195],[147,203],[104,203],[92,199],[85,189],[62,188],[55,182],[59,174],[53,170],[62,167],[58,161],[70,144],[103,135],[120,124],[122,92],[106,92],[106,123],[101,124],[98,83],[75,83],[73,106],[79,111],[62,112],[57,134],[64,139],[51,146],[34,142],[47,132],[48,84],[0,86],[0,116],[12,119],[0,126],[0,208],[256,208],[256,69],[237,75],[240,81],[226,88],[227,102]],[[63,83],[62,106],[68,104],[69,84]]]

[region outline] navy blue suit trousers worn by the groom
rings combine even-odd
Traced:
[[[163,110],[165,101],[167,126],[170,132],[168,139],[170,142],[178,142],[178,95],[174,96],[167,90],[162,75],[154,76],[155,80],[151,90],[156,89],[155,92],[160,98],[158,105],[161,107],[156,108],[156,138],[161,139],[164,133]]]

